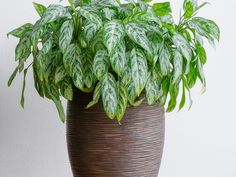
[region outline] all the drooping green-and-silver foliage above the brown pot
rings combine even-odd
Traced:
[[[214,44],[220,30],[212,20],[197,17],[207,3],[184,0],[184,13],[175,23],[169,2],[150,2],[69,0],[69,6],[48,7],[34,3],[39,20],[8,34],[19,38],[18,66],[8,85],[23,71],[22,106],[25,77],[32,67],[37,92],[55,103],[62,122],[61,97],[72,100],[74,88],[93,92],[87,107],[101,99],[107,116],[119,122],[127,107],[144,99],[170,112],[180,97],[182,109],[198,79],[206,86],[203,38]]]

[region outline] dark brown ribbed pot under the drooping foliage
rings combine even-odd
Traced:
[[[122,125],[92,95],[75,93],[67,108],[67,143],[74,177],[157,177],[164,144],[164,109],[146,103],[126,111]]]

